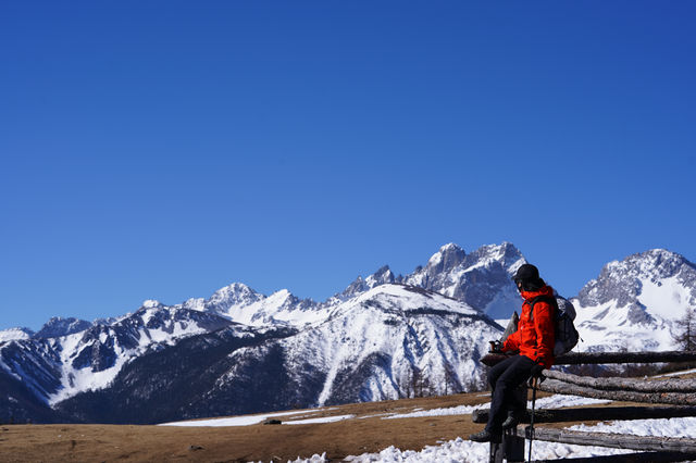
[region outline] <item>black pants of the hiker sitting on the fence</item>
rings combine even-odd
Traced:
[[[490,413],[486,430],[493,434],[502,431],[502,422],[514,402],[514,390],[529,379],[534,365],[532,359],[518,354],[490,368],[488,384],[490,384],[493,392],[490,393]]]

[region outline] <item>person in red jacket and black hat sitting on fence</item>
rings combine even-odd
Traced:
[[[554,364],[554,289],[539,277],[538,268],[532,264],[520,266],[513,279],[524,299],[518,330],[504,343],[492,342],[492,351],[517,353],[488,372],[492,387],[488,423],[483,431],[469,436],[477,442],[500,442],[502,430],[518,425],[519,417],[512,410],[514,390]],[[532,311],[531,302],[535,298],[539,299],[534,302]]]

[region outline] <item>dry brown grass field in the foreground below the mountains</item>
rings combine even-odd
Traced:
[[[693,371],[689,373],[683,377],[696,376]],[[540,392],[538,397],[546,396]],[[324,452],[332,461],[341,461],[348,455],[380,452],[389,446],[421,450],[457,437],[467,438],[483,428],[472,423],[471,415],[383,418],[390,413],[475,405],[488,400],[486,393],[472,392],[310,409],[277,417],[287,423],[355,415],[334,423],[293,426],[2,425],[0,462],[287,462]]]

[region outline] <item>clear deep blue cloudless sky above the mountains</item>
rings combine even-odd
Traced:
[[[323,300],[447,242],[567,296],[696,261],[687,1],[0,5],[0,329],[243,281]]]

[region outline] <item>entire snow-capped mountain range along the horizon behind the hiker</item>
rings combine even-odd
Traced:
[[[323,302],[240,283],[210,298],[39,331],[0,331],[0,421],[160,423],[469,391],[520,306],[511,243],[442,247],[413,273],[388,266]],[[696,266],[650,250],[610,262],[572,299],[576,350],[668,350],[696,308]]]

